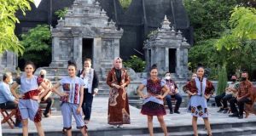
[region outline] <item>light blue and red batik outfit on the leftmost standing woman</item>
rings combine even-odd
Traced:
[[[20,94],[23,95],[18,103],[20,111],[18,115],[20,115],[21,119],[29,118],[33,122],[40,122],[42,120],[38,100],[33,99],[33,96],[38,96],[40,93],[38,87],[41,82],[43,82],[43,78],[37,76],[32,76],[31,78],[21,76],[17,79],[17,83],[20,84]]]

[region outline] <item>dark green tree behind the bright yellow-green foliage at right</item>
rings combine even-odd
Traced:
[[[217,50],[215,44],[217,39],[224,35],[230,34],[230,15],[237,5],[253,7],[255,2],[252,0],[184,0],[185,8],[189,14],[190,25],[195,29],[195,45],[189,49],[189,64],[192,65],[192,69],[196,67],[198,63],[205,65],[212,71],[218,71],[219,66],[223,66],[226,63],[226,69],[229,73],[233,74],[234,68],[236,69],[238,64],[245,62],[245,58],[237,56],[247,56],[251,54],[248,64],[253,62],[253,46],[255,41],[243,41],[247,51],[241,52],[241,50],[234,50],[232,53],[227,49]],[[247,25],[245,25],[247,27]],[[241,29],[243,29],[241,27]],[[253,30],[252,30],[253,31]],[[237,30],[239,32],[239,30]],[[225,38],[226,42],[232,41],[230,37]],[[235,40],[235,39],[233,39]],[[230,42],[229,44],[235,42]],[[230,45],[233,46],[233,45]],[[255,51],[254,51],[255,52]],[[252,61],[251,61],[252,60]],[[246,67],[252,70],[251,65],[240,65],[239,67]],[[210,73],[211,78],[215,78],[214,74]]]

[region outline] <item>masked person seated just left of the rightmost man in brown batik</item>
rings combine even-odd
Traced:
[[[218,112],[227,113],[229,111],[228,101],[232,98],[236,97],[236,75],[231,77],[231,82],[229,83],[228,88],[225,88],[225,92],[223,94],[219,94],[215,97],[215,102],[220,109]]]

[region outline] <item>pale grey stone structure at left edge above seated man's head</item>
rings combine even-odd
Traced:
[[[15,71],[18,66],[18,57],[15,53],[6,51],[0,55],[0,75],[3,71]],[[1,80],[1,79],[0,79]]]

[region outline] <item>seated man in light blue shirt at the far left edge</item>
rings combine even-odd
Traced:
[[[18,99],[11,94],[9,84],[13,82],[12,74],[6,72],[3,74],[3,82],[0,82],[0,108],[5,110],[13,110],[18,107]],[[22,127],[20,119],[16,117],[15,127]]]

